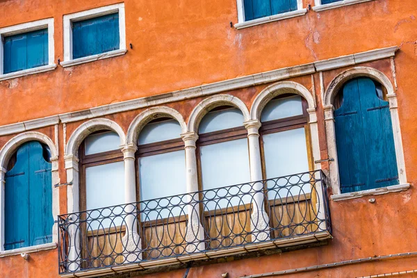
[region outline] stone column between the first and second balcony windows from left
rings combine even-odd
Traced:
[[[135,153],[138,147],[128,144],[120,147],[124,160],[124,225],[126,234],[122,238],[125,263],[142,259],[142,242],[138,234],[138,214],[136,202]]]

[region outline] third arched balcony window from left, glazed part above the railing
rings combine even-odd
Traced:
[[[202,189],[250,181],[247,131],[238,108],[222,106],[199,124],[199,163]]]

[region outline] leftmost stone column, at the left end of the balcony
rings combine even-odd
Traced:
[[[64,156],[65,170],[67,170],[67,182],[72,185],[67,186],[67,213],[74,215],[70,216],[72,219],[68,219],[68,235],[69,238],[69,250],[68,250],[68,265],[69,271],[80,270],[81,259],[81,245],[80,245],[80,227],[79,227],[79,158],[73,154]],[[75,221],[74,224],[71,224]]]

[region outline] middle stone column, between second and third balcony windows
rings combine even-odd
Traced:
[[[185,143],[186,186],[188,193],[188,206],[186,208],[188,212],[186,251],[193,253],[206,249],[204,244],[204,229],[199,215],[199,195],[195,194],[198,191],[197,158],[195,156],[195,142],[198,139],[198,135],[195,132],[188,132],[181,134],[181,138]]]

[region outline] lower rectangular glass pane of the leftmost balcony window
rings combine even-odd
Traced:
[[[87,210],[124,204],[124,162],[87,167],[85,188]],[[122,213],[122,209],[116,208],[113,213],[110,210],[93,211],[89,229],[120,226],[123,215],[115,216],[118,213]]]

